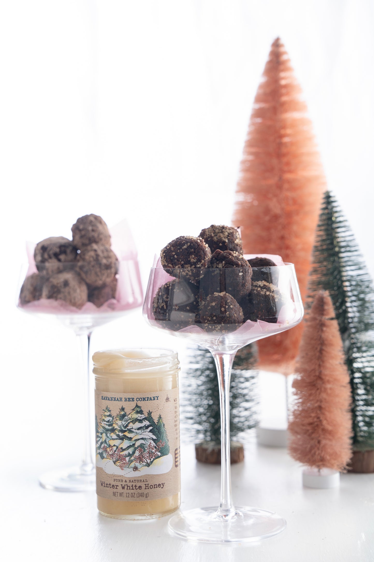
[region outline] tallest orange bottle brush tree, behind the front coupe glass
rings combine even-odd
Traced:
[[[271,46],[244,144],[233,222],[246,253],[295,264],[304,299],[325,176],[307,106],[280,39]],[[294,372],[302,324],[258,342],[259,368]]]

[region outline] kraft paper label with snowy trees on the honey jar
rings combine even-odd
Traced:
[[[179,393],[95,391],[96,493],[151,501],[181,490]]]

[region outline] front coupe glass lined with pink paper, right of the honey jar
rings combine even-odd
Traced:
[[[156,329],[167,330],[173,336],[190,338],[208,349],[214,357],[218,373],[221,412],[220,503],[218,507],[178,512],[169,520],[170,532],[189,540],[219,543],[258,541],[280,533],[286,525],[283,518],[271,511],[247,506],[234,507],[232,500],[229,389],[235,353],[257,339],[293,328],[303,317],[293,264],[252,268],[252,273],[251,292],[243,296],[236,293],[241,275],[244,274],[241,268],[201,270],[199,279],[186,269],[164,270],[159,264],[150,272],[143,307],[146,321]],[[257,279],[257,283],[253,284],[253,279]],[[207,294],[222,293],[226,288],[242,306],[242,323],[202,323],[196,297],[201,305]]]

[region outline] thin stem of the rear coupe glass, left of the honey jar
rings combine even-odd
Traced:
[[[91,384],[91,373],[90,373],[90,341],[92,332],[79,333],[78,337],[80,339],[81,350],[82,350],[82,360],[84,368],[84,392],[85,392],[85,422],[84,422],[84,434],[85,443],[83,449],[83,458],[80,465],[81,474],[93,474],[95,471],[95,465],[93,461],[93,448],[92,448],[92,422],[93,422],[93,409],[91,406],[92,401],[92,384]]]

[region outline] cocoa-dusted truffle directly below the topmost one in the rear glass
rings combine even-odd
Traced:
[[[108,246],[85,246],[76,261],[77,271],[91,287],[104,287],[117,273],[117,256]]]

